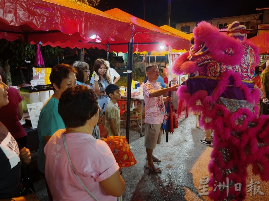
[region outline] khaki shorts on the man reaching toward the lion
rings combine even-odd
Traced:
[[[145,124],[145,147],[155,149],[156,144],[161,144],[162,124]]]

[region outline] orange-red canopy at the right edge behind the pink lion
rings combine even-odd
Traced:
[[[260,54],[269,54],[269,32],[264,32],[249,40],[260,48]]]

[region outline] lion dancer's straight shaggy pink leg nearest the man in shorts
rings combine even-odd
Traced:
[[[244,119],[240,118],[232,124],[234,113],[230,113],[224,105],[211,105],[207,110],[205,108],[203,113],[203,126],[206,129],[214,129],[212,159],[208,165],[212,174],[209,184],[212,191],[209,196],[213,200],[244,200],[248,163],[246,157],[241,155],[248,153],[248,147],[243,149],[240,143],[241,138],[246,135],[248,125],[242,125]],[[241,114],[238,116],[241,117]],[[240,124],[240,131],[234,129],[236,124]],[[248,157],[251,161],[251,154]]]

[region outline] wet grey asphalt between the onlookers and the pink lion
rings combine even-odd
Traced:
[[[165,142],[166,134],[162,136],[161,144],[156,146],[154,154],[162,161],[156,163],[162,169],[162,173],[154,174],[146,169],[146,150],[144,137],[140,137],[140,128],[131,122],[130,124],[130,147],[137,160],[132,167],[122,169],[122,177],[126,182],[123,200],[127,201],[163,201],[163,200],[209,200],[207,196],[199,196],[200,179],[208,177],[207,165],[210,160],[212,147],[207,147],[199,140],[203,138],[203,130],[195,127],[195,116],[189,114],[187,119],[179,121],[179,128],[169,135]],[[121,122],[121,132],[125,133],[126,122]],[[144,131],[144,128],[143,128]],[[34,154],[35,155],[35,154]],[[33,157],[32,157],[33,158]],[[35,161],[32,164],[35,190],[40,200],[48,200],[44,180],[35,170]],[[249,178],[254,182],[260,181],[259,193],[250,196],[247,193],[246,200],[269,200],[268,182],[263,182],[258,176],[251,173],[248,168]]]

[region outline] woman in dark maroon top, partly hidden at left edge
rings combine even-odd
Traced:
[[[6,73],[1,67],[0,75],[3,82],[6,83]],[[27,147],[27,133],[19,121],[23,117],[23,98],[15,88],[9,87],[7,91],[9,103],[0,108],[0,114],[5,114],[0,115],[0,121],[22,147]]]

